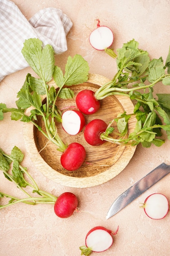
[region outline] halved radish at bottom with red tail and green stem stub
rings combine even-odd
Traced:
[[[104,252],[113,244],[113,236],[118,232],[106,229],[102,226],[97,226],[88,231],[85,239],[86,246],[81,246],[79,249],[82,251],[81,255],[90,255],[91,252]]]

